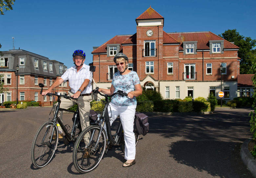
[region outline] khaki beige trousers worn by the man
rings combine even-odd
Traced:
[[[69,91],[68,95],[72,96],[73,93]],[[91,106],[90,106],[91,101],[92,101],[92,95],[79,96],[77,100],[69,100],[66,98],[61,98],[60,108],[68,109],[71,106],[75,105],[75,103],[77,103],[79,108],[81,128],[82,130],[84,130],[86,127],[90,125],[89,115],[90,115],[90,109],[91,109]],[[60,118],[61,121],[62,121],[62,115],[63,115],[63,111],[59,111],[58,117]],[[60,126],[58,126],[58,130],[63,133]]]

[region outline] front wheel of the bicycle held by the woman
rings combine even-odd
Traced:
[[[77,171],[90,172],[99,165],[106,148],[105,130],[103,129],[99,134],[100,126],[91,125],[84,129],[77,138],[73,150],[73,163]]]

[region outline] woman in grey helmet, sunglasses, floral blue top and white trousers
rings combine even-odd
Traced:
[[[128,70],[128,57],[123,53],[118,53],[114,57],[118,72],[114,74],[110,89],[99,89],[104,94],[111,95],[117,90],[127,93],[127,97],[115,95],[111,99],[108,111],[113,117],[113,121],[120,116],[124,131],[124,158],[127,160],[123,167],[135,164],[135,136],[133,132],[134,115],[137,106],[136,97],[142,94],[139,76],[136,72]]]

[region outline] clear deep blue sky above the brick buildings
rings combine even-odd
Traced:
[[[184,1],[70,1],[16,0],[13,10],[0,16],[1,51],[30,51],[52,60],[73,65],[76,49],[92,62],[93,46],[115,35],[136,33],[135,19],[149,6],[164,17],[165,32],[211,31],[221,34],[237,29],[256,39],[255,0]]]

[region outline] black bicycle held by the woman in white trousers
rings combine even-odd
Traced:
[[[74,150],[73,150],[73,163],[76,168],[81,173],[86,173],[94,170],[102,159],[104,153],[107,153],[108,148],[111,146],[121,146],[124,151],[124,134],[121,122],[117,126],[116,134],[111,134],[111,125],[108,114],[108,105],[110,103],[110,97],[114,95],[127,96],[126,93],[118,90],[112,95],[101,94],[98,91],[98,87],[94,90],[94,93],[99,93],[101,96],[105,97],[104,109],[101,114],[97,115],[95,123],[91,123],[89,127],[84,129],[79,137],[76,139]],[[136,118],[136,117],[135,117]],[[136,120],[135,122],[136,123]],[[106,124],[107,134],[103,129],[104,124]],[[139,140],[139,134],[134,130],[135,144],[137,145]],[[108,138],[107,138],[108,136]],[[107,145],[107,148],[106,148]]]

